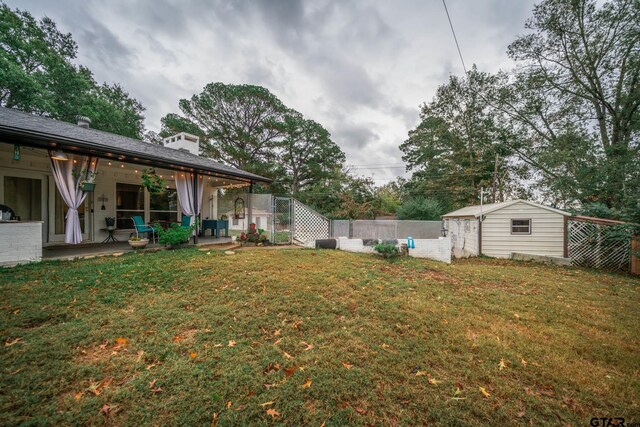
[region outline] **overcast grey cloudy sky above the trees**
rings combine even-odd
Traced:
[[[353,171],[406,176],[398,146],[419,106],[461,75],[441,0],[8,0],[49,16],[96,80],[121,83],[146,127],[209,82],[268,88],[324,125]],[[447,0],[467,67],[509,68],[533,0]]]

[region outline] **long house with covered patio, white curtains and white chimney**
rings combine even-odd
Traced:
[[[134,215],[146,223],[178,222],[194,212],[217,218],[218,189],[270,182],[200,157],[193,135],[164,143],[94,130],[84,117],[75,125],[0,108],[0,205],[20,219],[0,222],[0,265],[38,259],[42,245],[102,242],[108,217],[116,218],[120,238],[134,231]],[[143,187],[149,168],[164,180],[164,192]],[[78,174],[95,176],[95,189],[79,189]],[[18,253],[27,247],[32,252]]]

